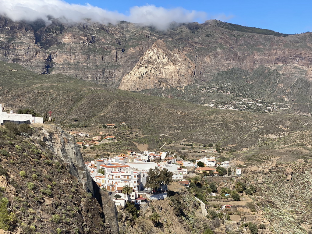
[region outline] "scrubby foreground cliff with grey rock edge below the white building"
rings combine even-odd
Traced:
[[[0,127],[0,233],[118,234],[115,204],[92,181],[75,139],[50,125],[23,131],[30,136],[8,141]]]

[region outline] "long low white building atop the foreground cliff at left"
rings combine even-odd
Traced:
[[[0,104],[0,125],[6,122],[12,122],[14,124],[43,124],[43,118],[32,115],[13,114],[12,110],[8,114],[7,112],[2,112],[2,104]]]

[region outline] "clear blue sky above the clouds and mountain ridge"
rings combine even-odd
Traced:
[[[301,33],[312,31],[311,1],[105,1],[105,0],[66,0],[68,3],[89,3],[108,11],[129,15],[134,6],[155,5],[172,9],[182,7],[186,10],[206,12],[205,19],[220,20],[243,26],[267,28],[282,33]],[[198,22],[204,21],[202,18]]]

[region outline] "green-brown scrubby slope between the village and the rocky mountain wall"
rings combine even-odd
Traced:
[[[217,110],[183,100],[105,89],[68,76],[38,75],[0,62],[0,101],[5,110],[52,110],[57,123],[69,126],[126,122],[153,139],[166,137],[237,148],[257,145],[262,136],[305,129],[311,119]],[[162,136],[163,135],[163,136]]]

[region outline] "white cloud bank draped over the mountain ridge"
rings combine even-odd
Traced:
[[[165,9],[154,5],[130,8],[129,16],[119,12],[91,6],[90,4],[70,4],[62,0],[0,0],[0,14],[14,21],[43,19],[49,22],[48,15],[60,18],[63,22],[82,22],[85,18],[100,23],[117,23],[121,20],[165,29],[170,22],[205,21],[205,12],[188,11],[181,7]],[[227,18],[218,15],[218,19]]]

